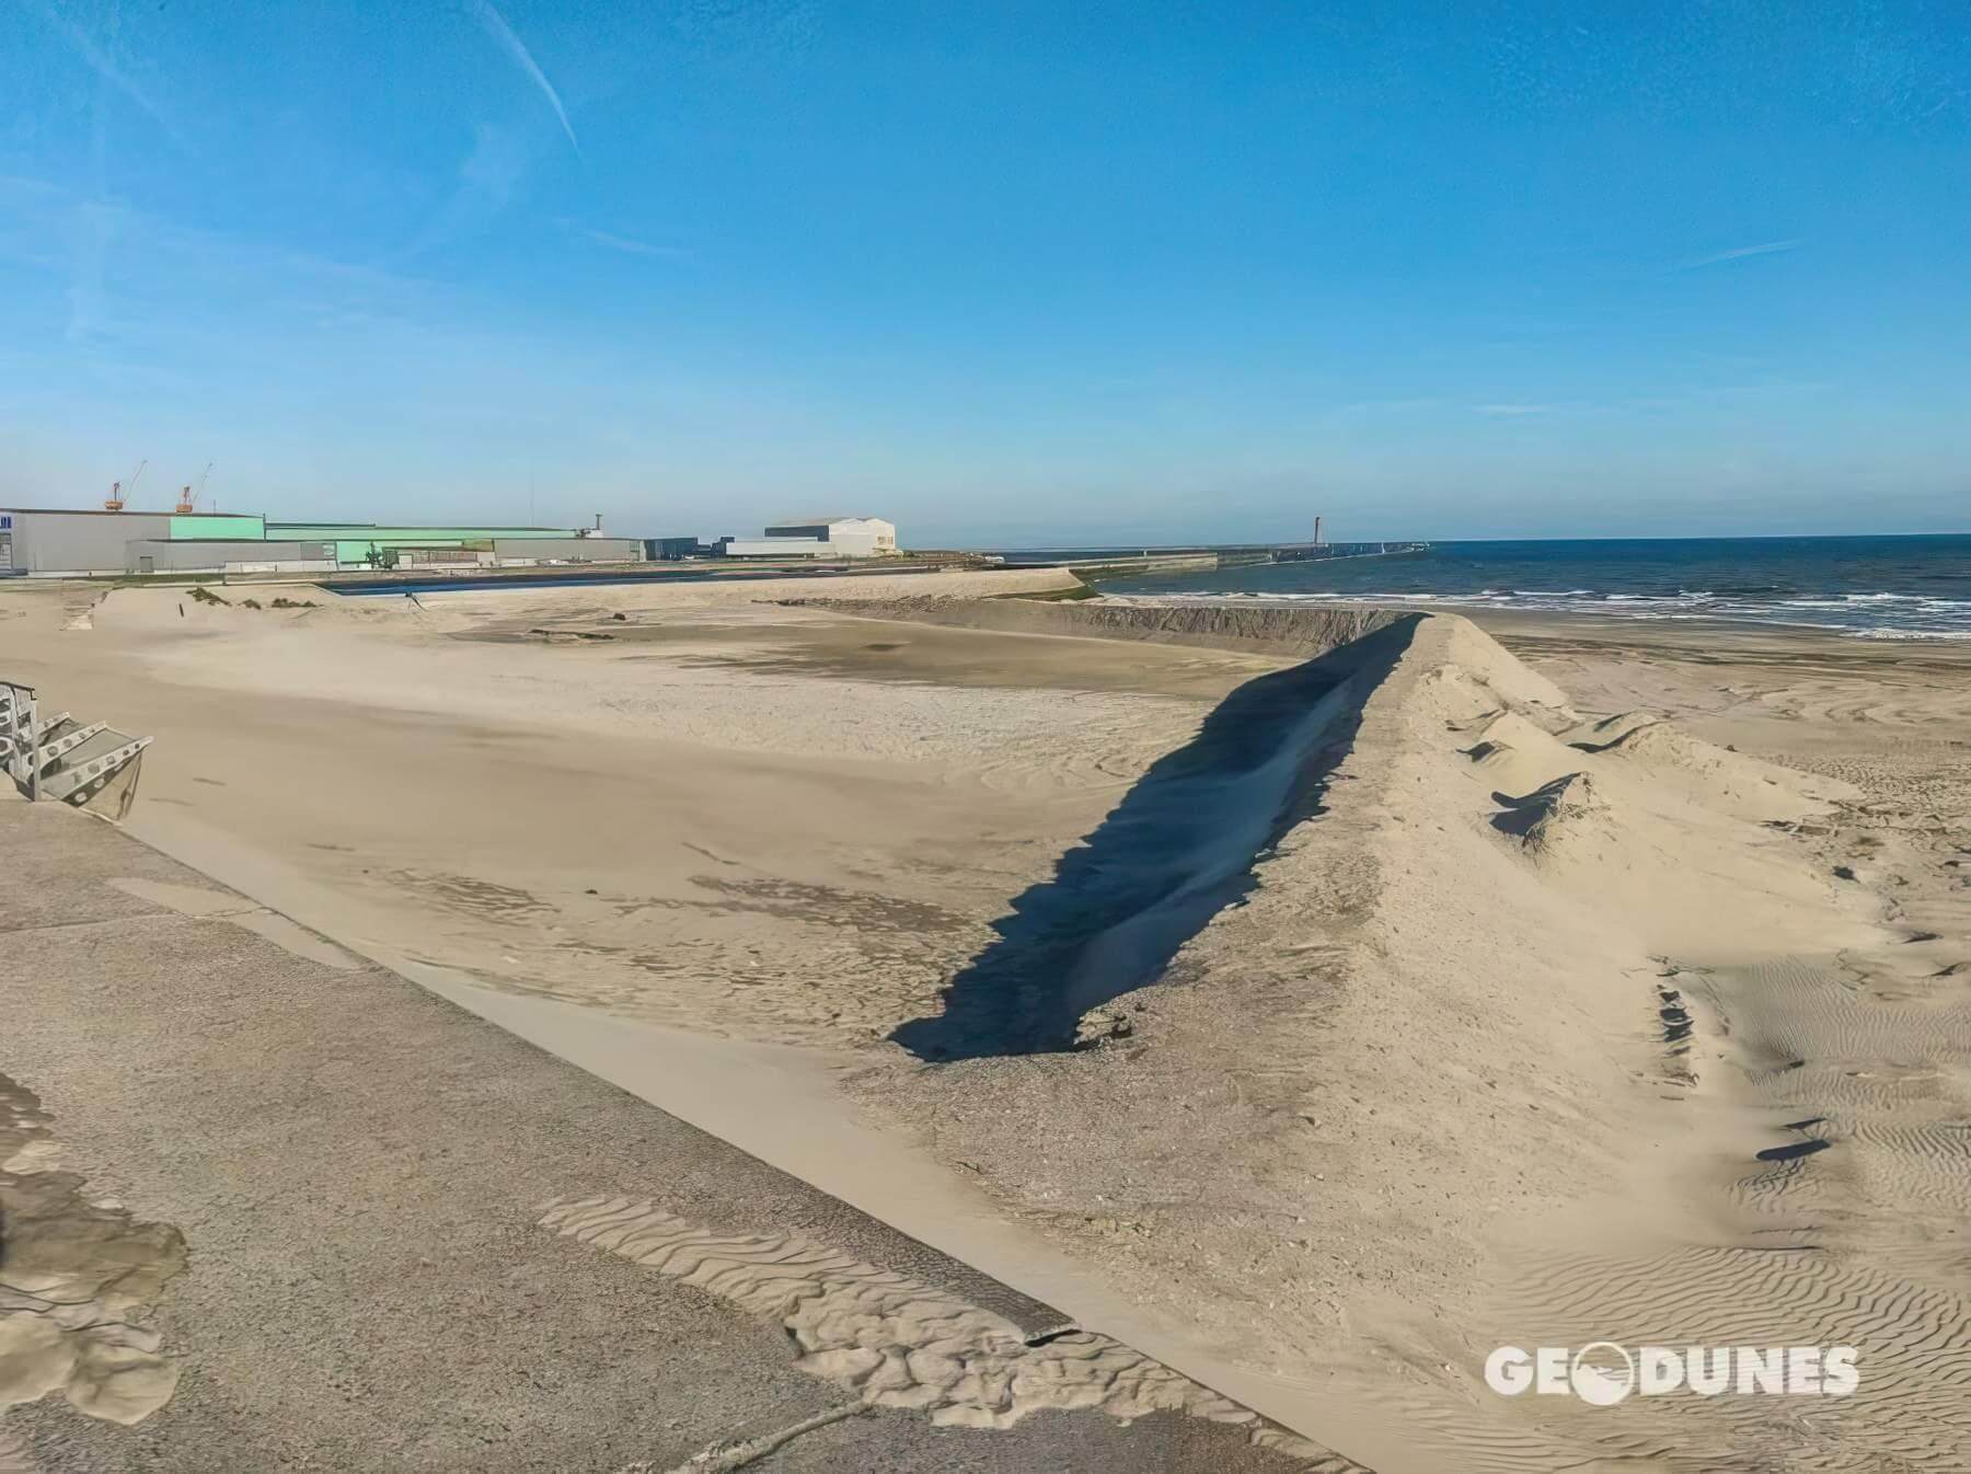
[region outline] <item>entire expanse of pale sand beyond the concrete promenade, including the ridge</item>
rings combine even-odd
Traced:
[[[0,664],[158,735],[162,847],[1384,1474],[1971,1466],[1965,652],[812,593],[8,589]],[[1478,1375],[1589,1340],[1863,1383]]]

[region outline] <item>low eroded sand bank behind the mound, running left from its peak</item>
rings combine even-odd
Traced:
[[[1413,609],[1323,605],[1321,609],[1230,609],[1226,605],[1045,603],[1037,599],[788,599],[865,619],[989,629],[1005,635],[1072,635],[1098,640],[1155,640],[1208,650],[1315,660],[1364,635],[1427,619]]]

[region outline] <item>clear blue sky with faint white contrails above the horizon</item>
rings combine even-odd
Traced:
[[[1965,528],[1967,124],[1955,0],[0,0],[0,501]]]

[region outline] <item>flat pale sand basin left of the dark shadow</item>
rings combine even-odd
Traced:
[[[168,739],[146,759],[140,836],[229,881],[292,871],[359,948],[822,1044],[934,1007],[1005,897],[1206,704],[1269,668],[885,638],[761,603],[763,587],[424,609],[315,595],[304,611],[122,591],[87,631],[26,591],[10,664],[63,705]]]

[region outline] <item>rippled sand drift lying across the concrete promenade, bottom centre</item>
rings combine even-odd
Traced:
[[[714,1234],[633,1198],[554,1200],[540,1226],[781,1320],[802,1372],[875,1407],[970,1429],[1009,1429],[1041,1409],[1125,1423],[1183,1413],[1242,1427],[1317,1474],[1368,1474],[1108,1336],[1074,1330],[1029,1346],[1003,1316],[820,1243]]]

